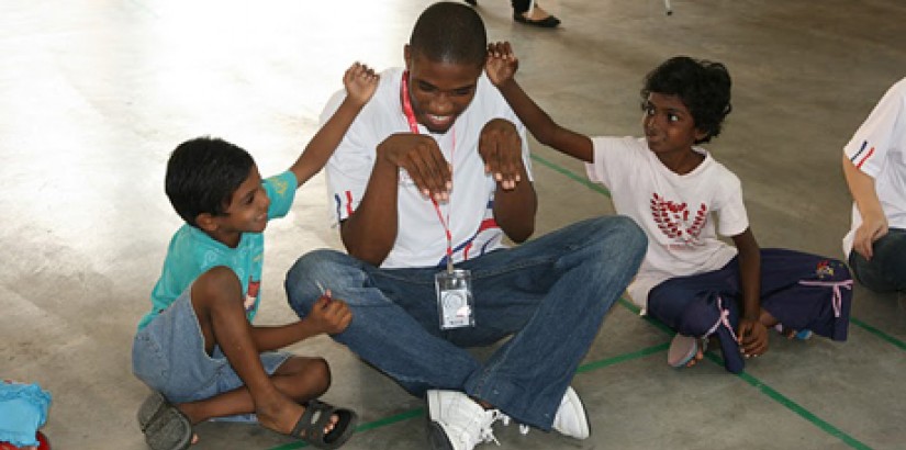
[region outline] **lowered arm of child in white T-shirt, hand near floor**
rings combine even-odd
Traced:
[[[739,284],[742,290],[742,313],[737,338],[746,356],[768,351],[768,330],[759,322],[761,315],[761,249],[751,228],[732,237],[739,251]]]

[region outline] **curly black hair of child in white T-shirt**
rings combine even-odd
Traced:
[[[724,119],[732,110],[731,85],[723,64],[674,56],[648,72],[641,99],[644,103],[651,92],[679,97],[692,114],[695,127],[705,132],[705,137],[695,142],[702,144],[720,134]]]

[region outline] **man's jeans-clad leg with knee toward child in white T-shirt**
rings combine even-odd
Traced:
[[[450,339],[481,345],[485,334],[515,331],[469,376],[466,393],[549,430],[575,369],[646,248],[645,234],[631,220],[608,216],[462,263],[472,271],[477,328],[454,331]]]

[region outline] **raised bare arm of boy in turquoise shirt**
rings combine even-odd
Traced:
[[[290,167],[290,170],[295,173],[297,188],[324,168],[327,159],[343,140],[346,131],[349,130],[349,125],[378,89],[378,81],[379,76],[374,74],[374,70],[363,64],[355,63],[346,70],[343,76],[346,98],[343,99],[343,103],[339,104],[334,115],[315,133],[295,164]]]

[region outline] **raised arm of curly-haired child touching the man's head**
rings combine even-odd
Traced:
[[[518,66],[519,61],[508,42],[488,45],[488,59],[484,65],[488,78],[497,87],[532,135],[544,145],[585,162],[593,162],[594,151],[589,136],[563,128],[553,122],[516,82]]]

